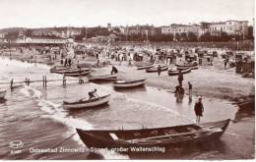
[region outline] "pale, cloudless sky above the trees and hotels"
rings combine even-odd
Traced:
[[[0,28],[168,26],[254,18],[254,0],[0,0]]]

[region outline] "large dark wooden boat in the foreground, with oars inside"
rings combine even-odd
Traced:
[[[195,142],[210,142],[224,134],[229,119],[199,125],[183,125],[142,130],[96,130],[77,133],[88,148],[149,148],[154,146],[174,148]]]

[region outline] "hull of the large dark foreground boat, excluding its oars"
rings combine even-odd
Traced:
[[[132,151],[132,148],[134,147],[142,147],[142,148],[149,148],[149,147],[182,147],[184,145],[202,142],[206,143],[216,140],[221,137],[221,135],[224,134],[224,131],[226,130],[229,119],[220,121],[220,124],[218,122],[216,123],[216,126],[213,127],[204,127],[203,125],[187,125],[187,126],[178,126],[180,128],[189,128],[192,126],[198,127],[198,130],[196,132],[191,133],[181,133],[177,135],[163,135],[162,138],[158,138],[156,136],[151,137],[152,139],[149,140],[150,137],[148,137],[148,140],[145,140],[146,138],[137,138],[137,140],[134,139],[123,139],[123,138],[116,138],[111,139],[111,135],[126,135],[131,136],[133,134],[150,134],[153,132],[161,132],[162,130],[168,130],[168,129],[175,129],[175,127],[170,128],[157,128],[157,129],[144,129],[144,130],[127,130],[127,131],[82,131],[80,129],[77,129],[78,135],[80,135],[80,138],[82,141],[87,145],[87,147],[96,147],[96,148],[127,148],[128,151],[124,153],[130,153]],[[108,135],[108,136],[107,136]],[[189,136],[191,135],[191,136]],[[105,137],[102,137],[105,136]],[[110,137],[109,137],[110,136]],[[176,137],[175,137],[176,136]],[[153,139],[155,137],[155,140]],[[140,152],[138,152],[140,153]]]

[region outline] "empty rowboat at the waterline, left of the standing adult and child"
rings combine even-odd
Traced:
[[[134,80],[134,81],[114,81],[113,86],[115,88],[135,87],[144,85],[147,79]]]

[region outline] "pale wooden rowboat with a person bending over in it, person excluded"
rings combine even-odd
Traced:
[[[88,100],[81,99],[75,102],[63,101],[63,108],[69,109],[69,110],[81,109],[81,108],[92,108],[92,107],[103,105],[107,103],[109,100],[110,100],[110,94],[97,97],[97,98],[88,99]]]

